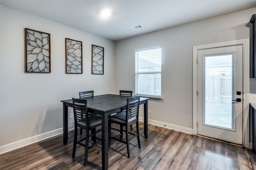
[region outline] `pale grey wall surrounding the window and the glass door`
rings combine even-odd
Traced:
[[[149,119],[192,133],[192,47],[250,38],[246,25],[255,11],[251,8],[116,42],[116,93],[135,91],[134,49],[161,45],[164,101],[149,102]]]

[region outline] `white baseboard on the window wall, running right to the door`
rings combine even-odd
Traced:
[[[139,121],[144,122],[144,118],[139,117]],[[170,123],[164,123],[164,122],[148,119],[148,124],[156,125],[156,126],[164,127],[164,128],[169,128],[169,129],[172,129],[172,130],[177,130],[177,131],[188,133],[188,134],[193,134],[193,129],[192,128],[181,127],[181,126],[178,126],[178,125],[172,125]]]

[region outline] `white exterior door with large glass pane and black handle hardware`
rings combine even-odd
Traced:
[[[198,134],[242,144],[242,45],[198,51]]]

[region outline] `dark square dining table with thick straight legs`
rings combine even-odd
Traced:
[[[127,98],[130,96],[98,95],[85,97],[88,112],[102,116],[102,169],[108,169],[108,116],[124,111]],[[63,143],[68,142],[68,107],[73,107],[72,99],[63,102]],[[140,97],[140,105],[144,105],[144,136],[148,138],[148,98]]]

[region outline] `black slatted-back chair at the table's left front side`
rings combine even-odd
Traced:
[[[81,146],[84,146],[85,147],[84,166],[85,166],[87,164],[87,159],[88,159],[88,150],[93,146],[92,145],[89,147],[89,137],[93,136],[94,144],[96,144],[96,139],[101,140],[100,138],[96,137],[96,133],[100,131],[100,130],[96,131],[96,127],[99,127],[102,124],[101,116],[88,114],[86,99],[72,98],[72,101],[73,101],[74,123],[75,123],[72,158],[74,158],[76,154],[76,144],[80,144]],[[82,138],[81,140],[77,140],[78,127],[86,130],[86,137]],[[90,135],[89,135],[89,130],[91,130]],[[83,140],[85,140],[85,144],[81,143]]]

